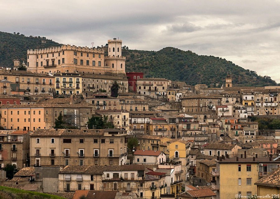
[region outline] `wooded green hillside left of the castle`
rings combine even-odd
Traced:
[[[25,61],[26,63],[28,49],[42,49],[56,46],[61,46],[61,44],[45,37],[26,37],[20,33],[0,32],[0,66],[13,66],[13,59],[19,59],[21,62]]]

